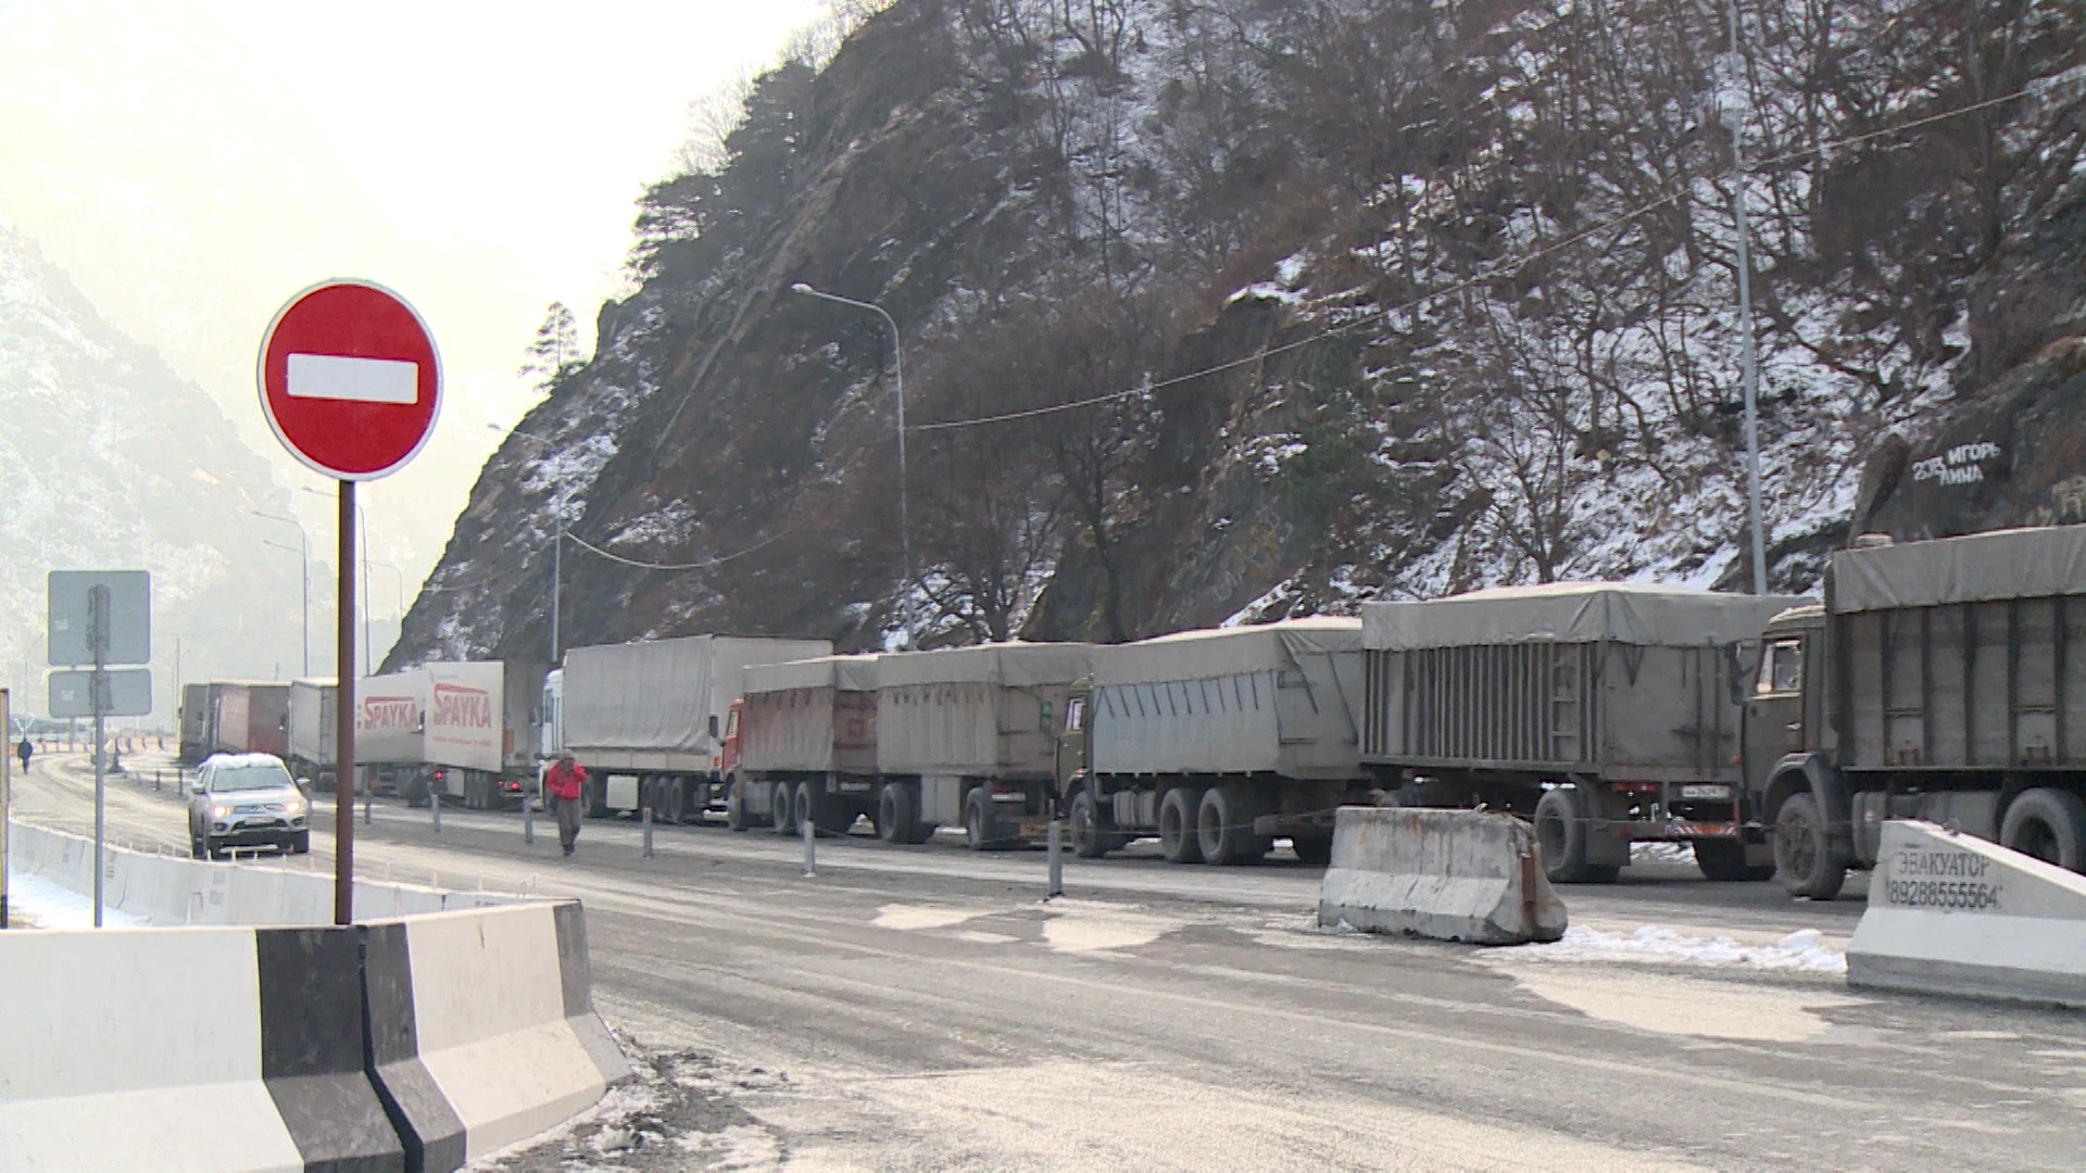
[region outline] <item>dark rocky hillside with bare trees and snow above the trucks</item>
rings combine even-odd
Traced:
[[[642,288],[486,465],[394,660],[544,647],[561,524],[567,645],[1744,586],[1729,111],[1771,584],[1854,524],[2061,520],[2055,472],[1917,493],[2000,415],[2069,468],[2078,13],[1748,10],[1729,58],[1719,15],[1629,0],[893,4],[647,194]],[[893,315],[903,482],[884,321],[799,282]]]

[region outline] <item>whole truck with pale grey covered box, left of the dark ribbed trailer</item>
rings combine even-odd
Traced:
[[[1158,835],[1174,864],[1252,864],[1287,837],[1304,862],[1327,862],[1333,812],[1371,801],[1360,703],[1352,618],[1095,649],[1058,739],[1074,852],[1097,858]]]

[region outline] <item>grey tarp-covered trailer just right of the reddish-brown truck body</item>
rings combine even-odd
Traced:
[[[983,643],[876,657],[878,812],[887,839],[962,827],[974,852],[1041,837],[1058,799],[1058,718],[1093,672],[1087,643]],[[882,814],[878,814],[882,818]]]

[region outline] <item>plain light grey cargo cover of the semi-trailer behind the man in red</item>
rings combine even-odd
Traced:
[[[565,653],[565,749],[588,768],[709,770],[709,718],[741,695],[749,664],[832,655],[824,639],[690,635]]]

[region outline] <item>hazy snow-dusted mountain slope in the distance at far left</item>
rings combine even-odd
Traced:
[[[4,225],[0,405],[0,603],[13,616],[0,666],[17,712],[44,712],[48,570],[152,572],[161,720],[171,720],[177,639],[188,678],[302,668],[298,536],[252,516],[288,513],[267,461],[202,388],[108,328]]]

